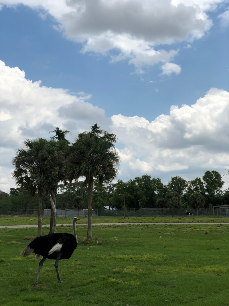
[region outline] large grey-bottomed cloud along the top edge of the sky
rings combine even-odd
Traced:
[[[143,73],[145,66],[170,62],[178,53],[160,45],[205,35],[212,26],[208,11],[225,1],[59,0],[57,5],[53,0],[1,0],[1,4],[30,6],[42,19],[50,14],[55,29],[82,43],[82,53],[110,56],[111,63],[127,59]]]

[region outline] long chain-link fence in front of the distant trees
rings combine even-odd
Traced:
[[[140,208],[125,209],[125,217],[184,217],[186,211],[191,212],[191,217],[223,218],[229,217],[229,207],[213,208]],[[51,209],[44,209],[43,218],[49,219]],[[57,218],[87,217],[87,209],[57,209]],[[0,216],[4,215],[38,215],[37,210],[7,210],[0,211]],[[123,209],[93,209],[93,217],[123,217]]]

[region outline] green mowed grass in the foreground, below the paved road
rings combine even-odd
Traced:
[[[43,235],[49,228],[43,228]],[[72,232],[72,227],[57,227]],[[61,260],[42,267],[22,257],[36,228],[0,229],[1,305],[228,305],[228,225],[77,226],[79,244]]]

